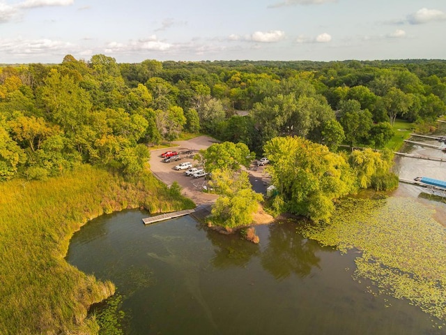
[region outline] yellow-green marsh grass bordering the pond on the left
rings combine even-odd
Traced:
[[[0,184],[0,334],[95,334],[91,304],[114,293],[69,265],[72,234],[91,218],[127,208],[193,208],[151,174],[125,181],[81,168],[47,181]]]

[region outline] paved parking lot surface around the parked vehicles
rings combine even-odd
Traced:
[[[174,181],[183,188],[183,193],[187,198],[194,200],[196,204],[212,204],[218,195],[203,192],[203,186],[207,185],[204,177],[187,177],[185,170],[175,170],[174,167],[179,163],[190,162],[194,167],[199,167],[199,162],[193,159],[194,154],[201,149],[207,149],[211,144],[217,143],[217,140],[208,136],[195,137],[192,140],[174,142],[172,147],[155,149],[151,151],[151,171],[155,176],[170,186]],[[180,153],[179,161],[164,163],[161,154],[165,151],[177,151]],[[185,151],[193,151],[193,154],[181,154]],[[249,179],[256,192],[265,193],[268,179],[263,176],[263,167],[258,170],[248,170]]]

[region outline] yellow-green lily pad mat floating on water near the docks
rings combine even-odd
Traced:
[[[362,251],[355,278],[368,278],[385,293],[407,299],[446,321],[446,229],[433,209],[409,198],[343,200],[330,225],[302,234],[342,252]]]

